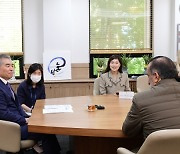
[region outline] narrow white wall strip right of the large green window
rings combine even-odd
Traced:
[[[170,56],[171,1],[154,0],[154,55]]]

